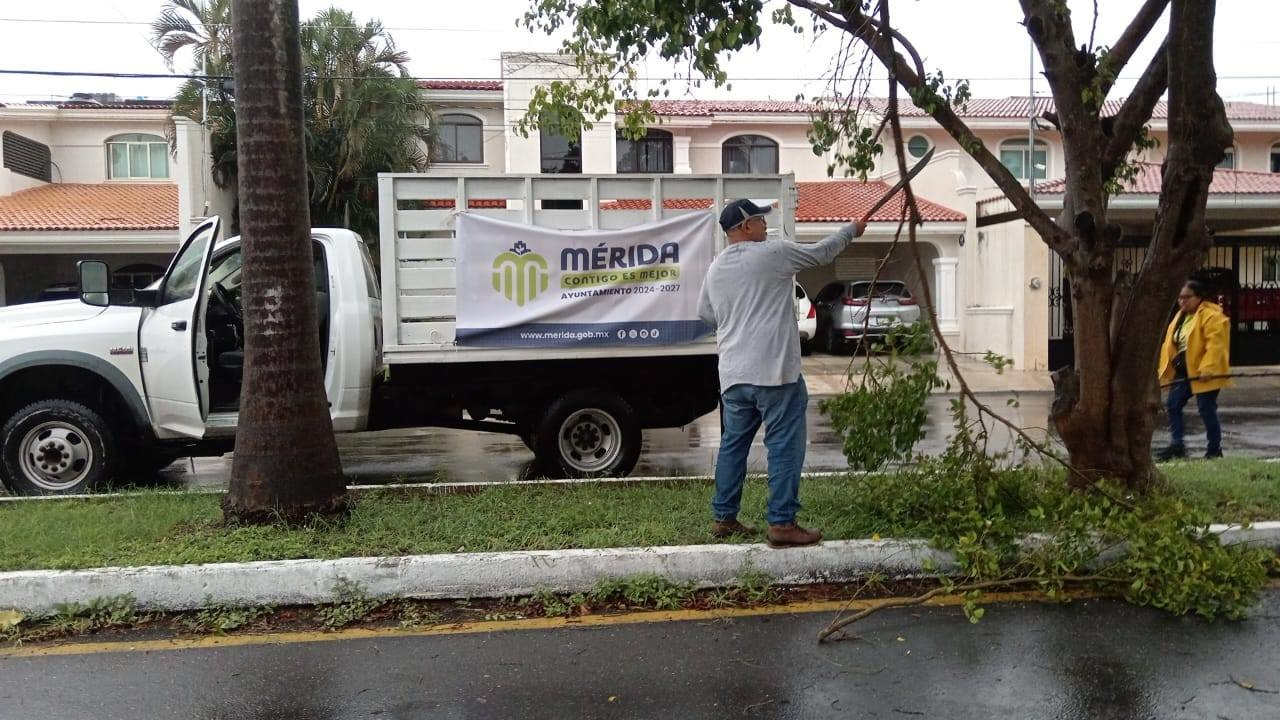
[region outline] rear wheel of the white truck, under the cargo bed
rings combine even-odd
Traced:
[[[622,477],[640,460],[640,421],[627,401],[577,389],[553,401],[534,438],[540,469],[558,478]]]

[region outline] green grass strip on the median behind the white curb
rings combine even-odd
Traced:
[[[1280,518],[1280,464],[1253,460],[1164,468],[1171,492],[1220,521]],[[1033,510],[1059,502],[1047,470],[1001,475],[1005,512],[1037,529]],[[932,537],[969,488],[901,471],[806,479],[801,521],[829,539]],[[748,482],[742,520],[763,524],[765,484]],[[709,482],[508,486],[474,495],[361,495],[340,524],[228,527],[220,496],[173,492],[0,505],[0,570],[79,569],[426,555],[504,550],[699,544],[709,532]],[[748,541],[744,541],[748,542]]]

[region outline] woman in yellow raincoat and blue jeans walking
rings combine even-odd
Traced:
[[[1231,384],[1231,320],[1216,302],[1204,299],[1204,286],[1188,281],[1178,293],[1178,314],[1165,331],[1160,348],[1160,383],[1169,386],[1169,447],[1158,460],[1187,456],[1183,442],[1183,407],[1194,396],[1208,447],[1204,457],[1222,456],[1222,425],[1217,420],[1217,393]],[[1170,384],[1172,383],[1172,384]]]

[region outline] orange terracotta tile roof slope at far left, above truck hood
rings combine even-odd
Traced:
[[[55,183],[0,197],[0,232],[178,229],[173,183]]]

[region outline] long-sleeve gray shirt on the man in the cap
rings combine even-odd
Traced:
[[[854,240],[852,225],[813,245],[788,240],[735,242],[712,261],[698,316],[716,328],[721,392],[736,384],[800,379],[795,274],[831,264]]]

